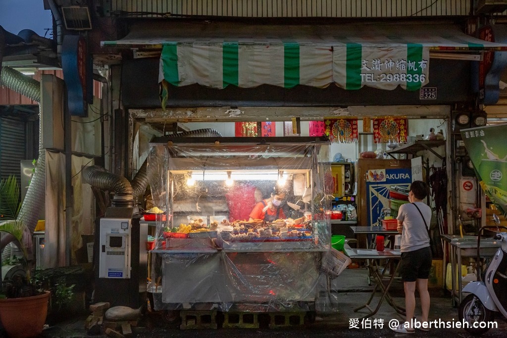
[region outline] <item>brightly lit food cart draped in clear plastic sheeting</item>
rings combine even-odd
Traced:
[[[154,309],[313,312],[331,242],[328,145],[314,137],[151,143],[152,197],[166,213],[151,250]],[[286,217],[250,220],[276,185]]]

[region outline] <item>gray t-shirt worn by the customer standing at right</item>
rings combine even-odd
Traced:
[[[415,204],[421,210],[426,225],[429,227],[431,208],[422,202],[415,202]],[[403,223],[401,252],[415,251],[429,246],[428,231],[424,227],[421,214],[414,205],[411,203],[402,204],[396,219]]]

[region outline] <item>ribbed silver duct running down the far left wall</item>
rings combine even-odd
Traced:
[[[9,67],[2,68],[2,76],[0,77],[0,85],[6,86],[33,101],[41,101],[41,84],[37,80],[24,75],[23,73]],[[23,243],[27,247],[28,252],[31,252],[31,238],[39,216],[45,206],[46,195],[46,152],[42,148],[42,120],[41,105],[39,104],[39,159],[35,164],[35,172],[28,185],[25,199],[21,205],[17,221],[23,222],[25,225],[25,233],[23,235]],[[2,224],[0,223],[0,230]],[[2,251],[2,261],[10,257],[11,248],[6,247],[7,244],[14,241],[15,238],[3,233],[0,240],[0,250]]]

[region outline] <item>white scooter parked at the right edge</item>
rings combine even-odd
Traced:
[[[485,226],[479,229],[477,239],[477,262],[479,264],[479,254],[481,249],[481,233],[487,228],[503,228],[500,226],[500,220],[497,215],[493,215],[496,226]],[[477,267],[477,276],[479,281],[468,283],[462,292],[469,294],[459,305],[459,319],[469,323],[464,327],[466,331],[472,334],[482,334],[489,330],[487,322],[492,322],[495,312],[500,312],[507,318],[507,233],[498,232],[494,239],[501,243],[495,255],[489,262],[484,274],[481,274],[480,267]],[[482,280],[481,280],[482,279]],[[473,327],[474,323],[484,322],[478,327]],[[479,327],[484,326],[484,327]]]

